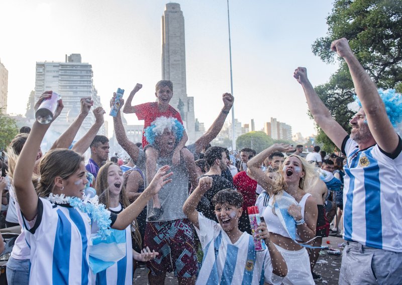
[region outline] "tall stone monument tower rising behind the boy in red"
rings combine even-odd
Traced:
[[[177,3],[166,4],[162,16],[162,80],[173,82],[170,105],[180,112],[189,143],[195,141],[194,97],[187,97],[184,17]]]

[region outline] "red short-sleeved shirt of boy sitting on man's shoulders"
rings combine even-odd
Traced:
[[[136,105],[135,113],[139,120],[144,120],[144,129],[142,130],[142,147],[145,148],[148,145],[148,141],[144,135],[145,129],[151,125],[151,123],[159,117],[173,117],[176,118],[181,124],[183,121],[181,120],[180,113],[176,111],[172,106],[168,105],[167,110],[164,112],[159,111],[157,102],[148,102],[140,105]]]

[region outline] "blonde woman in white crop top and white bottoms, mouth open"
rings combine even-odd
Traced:
[[[283,284],[315,284],[305,248],[316,236],[317,203],[306,193],[318,176],[315,167],[305,159],[291,155],[279,167],[274,179],[260,168],[273,152],[291,150],[289,145],[274,144],[247,162],[247,174],[269,195],[267,207],[259,210],[268,225],[271,241],[287,264],[288,273]]]

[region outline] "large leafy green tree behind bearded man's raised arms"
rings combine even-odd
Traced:
[[[326,37],[317,39],[313,53],[326,63],[339,59],[331,43],[347,38],[357,59],[380,88],[402,91],[402,1],[337,0],[327,18]],[[339,59],[339,69],[329,82],[315,88],[335,120],[349,130],[352,112],[347,104],[355,93],[346,62]],[[332,141],[318,128],[317,141],[324,150],[333,150]]]

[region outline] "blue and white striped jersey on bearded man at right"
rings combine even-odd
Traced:
[[[344,167],[344,239],[402,252],[402,140],[393,154],[378,145],[359,150],[347,136]]]

